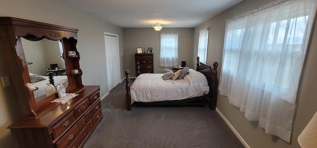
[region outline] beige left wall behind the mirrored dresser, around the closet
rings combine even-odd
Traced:
[[[100,85],[101,96],[107,90],[106,50],[104,32],[119,36],[120,52],[123,52],[122,28],[77,11],[55,0],[1,0],[0,16],[11,16],[79,29],[77,49],[84,85]],[[94,66],[92,66],[94,65]],[[122,57],[120,57],[121,75]],[[2,50],[0,50],[0,77],[9,76]],[[123,77],[122,77],[123,78]],[[0,148],[14,148],[10,130],[6,129],[19,118],[14,105],[12,87],[0,83]]]

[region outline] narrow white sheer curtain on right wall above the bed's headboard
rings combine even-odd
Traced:
[[[197,55],[200,57],[200,62],[202,63],[206,63],[207,60],[208,34],[209,28],[204,28],[199,31]]]

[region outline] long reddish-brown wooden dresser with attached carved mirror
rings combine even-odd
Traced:
[[[0,50],[16,94],[12,99],[21,116],[7,127],[16,148],[81,148],[103,119],[100,86],[82,84],[77,32],[69,27],[0,17]],[[50,64],[58,64],[55,70],[63,70],[60,78],[48,76]],[[48,94],[42,88],[48,86],[48,77],[51,84],[63,84],[66,93],[77,96],[65,103],[53,102],[57,93]],[[28,87],[36,83],[44,84]]]

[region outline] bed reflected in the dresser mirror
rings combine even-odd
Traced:
[[[33,92],[36,101],[46,98],[46,89],[48,88],[47,84],[51,83],[49,76],[42,76],[32,73],[29,74],[31,83],[38,88],[36,91]],[[54,86],[57,86],[59,83],[61,83],[64,87],[68,86],[68,79],[66,75],[53,76],[53,80]]]

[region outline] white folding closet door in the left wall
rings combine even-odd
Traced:
[[[117,37],[105,34],[108,90],[120,83],[120,61]]]

